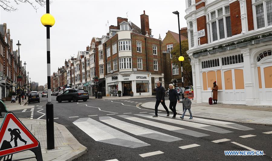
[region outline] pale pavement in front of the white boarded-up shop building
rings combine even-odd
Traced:
[[[141,104],[142,107],[154,109],[156,102],[147,102]],[[166,100],[165,104],[169,107],[170,101]],[[164,110],[160,104],[158,110]],[[177,113],[182,114],[182,104],[177,104]],[[208,119],[218,119],[235,121],[241,123],[255,123],[272,126],[272,107],[231,105],[231,104],[213,104],[207,103],[196,104],[192,101],[191,111],[193,117],[203,117]],[[186,112],[189,115],[189,112]]]

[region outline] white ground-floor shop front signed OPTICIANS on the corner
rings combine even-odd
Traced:
[[[114,90],[121,90],[122,96],[152,95],[151,74],[146,72],[123,72],[106,76],[106,94],[113,94]]]

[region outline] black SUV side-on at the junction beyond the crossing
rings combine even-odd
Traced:
[[[61,103],[62,101],[77,102],[83,100],[84,102],[89,99],[88,91],[83,89],[69,89],[62,94],[57,95],[56,100]]]

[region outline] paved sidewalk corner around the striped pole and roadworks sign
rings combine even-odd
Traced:
[[[16,103],[4,102],[8,111],[22,110],[33,108],[35,106],[23,105]],[[26,101],[25,101],[26,103]],[[4,113],[3,113],[4,114]],[[55,149],[47,150],[47,136],[46,136],[46,120],[42,119],[32,119],[32,118],[19,118],[19,120],[24,124],[25,127],[39,140],[41,145],[41,151],[44,161],[56,160],[56,161],[66,161],[73,160],[85,153],[87,153],[87,148],[80,144],[76,138],[61,124],[54,122],[54,140]],[[3,118],[0,118],[0,124],[2,124]],[[35,156],[30,150],[15,153],[12,159],[21,159]],[[28,160],[36,160],[35,158]]]

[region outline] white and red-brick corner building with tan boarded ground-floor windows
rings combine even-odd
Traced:
[[[224,104],[272,104],[271,0],[186,0],[194,97],[213,82]]]

